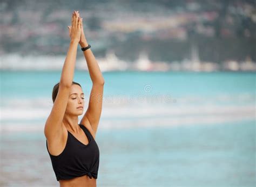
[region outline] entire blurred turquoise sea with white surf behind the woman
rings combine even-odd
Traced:
[[[1,71],[0,186],[58,186],[44,123],[60,74]],[[256,184],[254,73],[103,76],[97,186]],[[82,85],[87,104],[89,74],[76,70],[73,81]]]

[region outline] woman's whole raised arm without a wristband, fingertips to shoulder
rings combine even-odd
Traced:
[[[81,34],[80,22],[80,18],[77,17],[74,11],[71,21],[72,29],[70,32],[70,45],[60,77],[58,94],[44,127],[44,134],[48,141],[60,141],[63,136],[62,132],[64,126],[62,121],[66,106],[68,104],[70,89],[73,81],[73,74],[75,71],[77,46]]]

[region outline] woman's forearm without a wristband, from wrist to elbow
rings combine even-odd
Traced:
[[[71,86],[73,81],[73,75],[75,71],[76,56],[77,56],[77,40],[71,40],[68,53],[62,68],[62,75],[60,77],[60,84]]]

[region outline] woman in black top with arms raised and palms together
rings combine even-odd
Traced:
[[[53,107],[46,120],[44,134],[53,171],[60,186],[96,186],[99,168],[99,148],[96,132],[102,111],[104,78],[83,31],[78,11],[72,13],[69,28],[70,46],[63,65],[60,82],[52,92]],[[89,106],[83,114],[84,93],[73,82],[78,44],[92,80]]]

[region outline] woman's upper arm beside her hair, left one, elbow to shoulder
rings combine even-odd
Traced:
[[[63,132],[63,117],[68,104],[70,89],[68,86],[59,84],[55,102],[44,126],[44,134],[48,141],[55,139]]]

